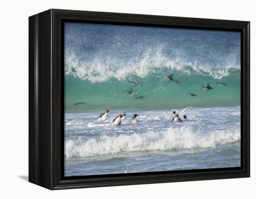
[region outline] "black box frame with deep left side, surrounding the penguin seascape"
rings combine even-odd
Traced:
[[[241,167],[64,177],[63,22],[176,27],[241,33]],[[29,182],[47,189],[250,176],[250,23],[50,9],[29,17]]]

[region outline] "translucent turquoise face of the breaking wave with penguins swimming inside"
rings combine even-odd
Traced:
[[[146,78],[130,78],[107,82],[91,83],[72,75],[65,77],[66,113],[88,112],[93,110],[130,109],[151,110],[165,108],[182,108],[187,106],[235,106],[240,105],[240,73],[231,72],[227,77],[216,80],[211,76],[186,74],[171,71],[175,83],[164,78],[164,75],[152,74]],[[137,82],[138,84],[130,83]],[[216,82],[225,82],[221,86]],[[213,89],[201,87],[209,83]],[[196,96],[191,96],[190,93]],[[76,103],[82,104],[75,105]]]

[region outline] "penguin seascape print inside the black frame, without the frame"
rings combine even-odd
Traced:
[[[64,176],[241,166],[241,33],[64,23]]]

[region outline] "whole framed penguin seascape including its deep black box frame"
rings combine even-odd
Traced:
[[[51,9],[29,17],[29,181],[249,177],[249,22]]]

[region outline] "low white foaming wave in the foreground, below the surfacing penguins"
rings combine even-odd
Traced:
[[[169,151],[176,149],[215,148],[239,141],[239,130],[218,130],[210,133],[196,131],[191,127],[169,127],[162,132],[148,131],[132,135],[107,135],[89,140],[65,141],[65,156],[91,157],[121,152]]]

